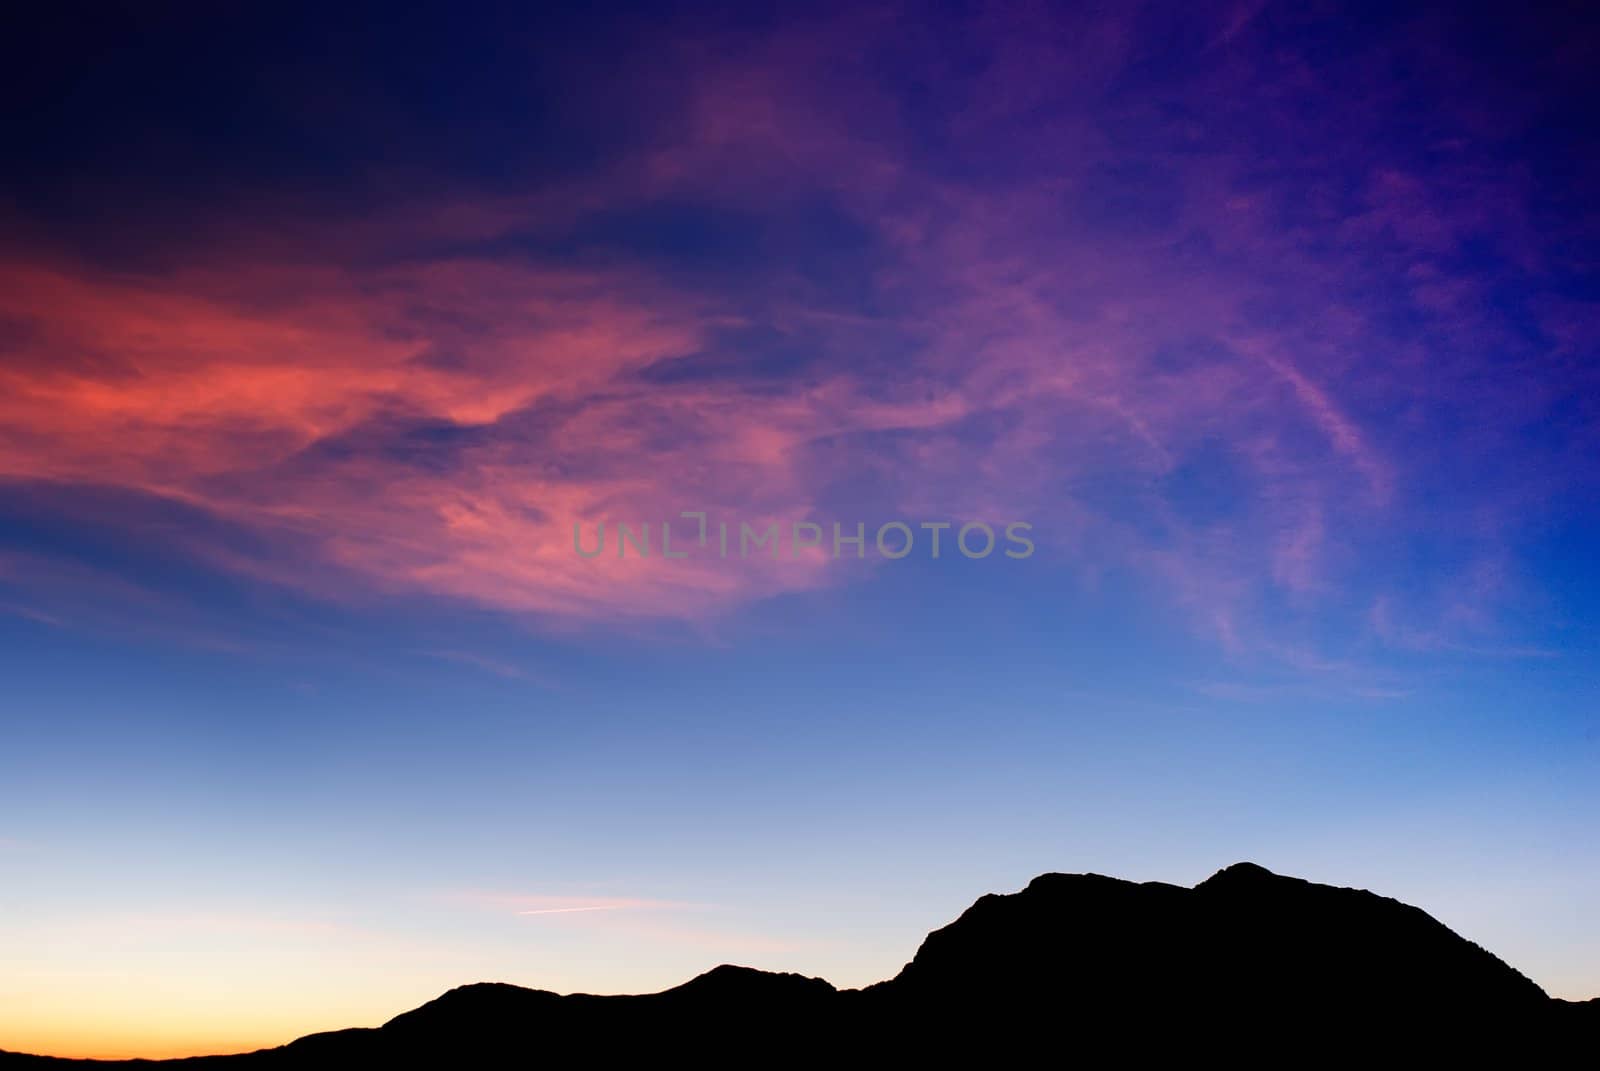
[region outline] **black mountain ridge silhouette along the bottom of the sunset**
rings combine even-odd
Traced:
[[[1555,1001],[1427,913],[1253,863],[1184,888],[1043,874],[934,930],[891,980],[717,967],[646,996],[504,983],[379,1028],[179,1061],[0,1053],[0,1068],[994,1066],[1037,1060],[1576,1060],[1600,1001]]]

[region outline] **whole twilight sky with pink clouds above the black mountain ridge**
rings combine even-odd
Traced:
[[[224,6],[0,45],[0,1049],[1240,860],[1600,996],[1574,13]]]

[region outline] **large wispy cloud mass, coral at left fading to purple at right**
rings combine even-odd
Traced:
[[[272,219],[139,271],[13,255],[0,475],[182,503],[253,535],[192,554],[318,597],[552,626],[859,575],[587,560],[576,522],[805,519],[864,488],[885,514],[1026,515],[1050,557],[1139,572],[1226,650],[1360,621],[1397,546],[1504,554],[1555,491],[1486,463],[1533,448],[1518,429],[1571,394],[1592,320],[1478,299],[1546,280],[1549,235],[1472,138],[1386,136],[1418,91],[1390,51],[1418,42],[1285,70],[1243,46],[1258,13],[1194,13],[1219,46],[1144,88],[1118,78],[1136,18],[984,13],[946,27],[974,62],[915,106],[862,43],[952,61],[893,10],[715,59],[667,42],[677,136],[565,186]],[[650,237],[685,226],[728,235],[725,261]],[[1485,242],[1504,255],[1475,261]]]

